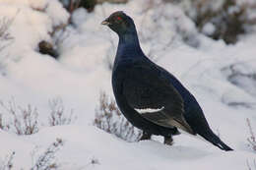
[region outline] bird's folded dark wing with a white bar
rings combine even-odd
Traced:
[[[157,66],[135,64],[127,68],[123,94],[128,104],[146,119],[192,133],[183,117],[181,95]]]

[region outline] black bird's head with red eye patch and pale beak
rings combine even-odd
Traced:
[[[136,31],[133,20],[122,11],[112,13],[101,25],[108,26],[119,36]]]

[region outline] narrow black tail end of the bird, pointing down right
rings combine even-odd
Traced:
[[[202,133],[199,135],[202,136],[208,142],[212,142],[214,145],[218,146],[222,150],[225,150],[225,151],[233,150],[231,147],[229,147],[224,142],[222,142],[222,140],[217,135],[215,135],[212,131],[209,133]]]

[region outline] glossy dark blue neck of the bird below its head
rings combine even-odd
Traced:
[[[121,58],[138,58],[144,56],[136,30],[119,35],[116,56]]]

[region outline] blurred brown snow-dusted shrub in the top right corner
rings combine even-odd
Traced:
[[[184,1],[183,1],[184,2]],[[235,43],[240,34],[256,24],[255,16],[250,14],[256,9],[254,1],[211,1],[190,0],[187,15],[194,20],[199,31],[214,38]]]

